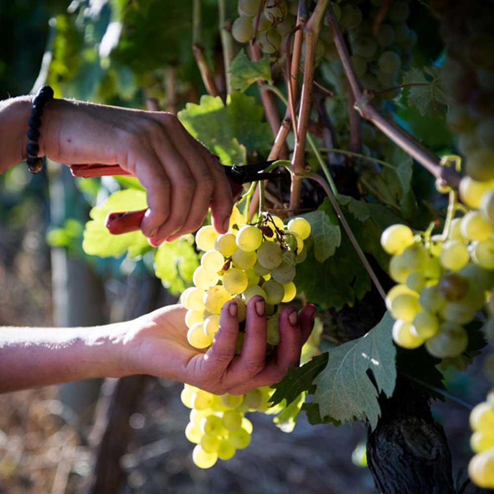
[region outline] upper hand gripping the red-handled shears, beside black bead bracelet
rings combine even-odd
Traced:
[[[225,233],[233,198],[223,166],[175,115],[56,99],[46,105],[40,156],[65,165],[120,165],[147,191],[151,245],[197,230],[211,207]]]

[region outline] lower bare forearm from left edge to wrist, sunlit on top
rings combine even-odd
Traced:
[[[91,328],[0,327],[0,393],[125,375],[128,324]]]

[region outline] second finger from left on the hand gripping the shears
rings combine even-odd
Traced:
[[[173,184],[170,190],[169,215],[156,234],[160,241],[164,241],[185,223],[196,190],[196,181],[187,163],[165,133],[159,139],[153,140],[153,146],[166,175]]]

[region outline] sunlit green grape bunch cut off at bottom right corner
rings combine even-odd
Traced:
[[[494,487],[494,392],[487,401],[479,403],[470,413],[470,426],[474,431],[470,439],[476,453],[468,465],[470,478],[480,487]]]

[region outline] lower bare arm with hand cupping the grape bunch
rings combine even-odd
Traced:
[[[239,356],[238,319],[230,313],[234,302],[223,307],[220,330],[207,352],[187,342],[185,309],[180,305],[92,328],[0,328],[0,393],[136,373],[187,382],[215,394],[240,394],[271,384],[298,363],[315,307],[308,305],[298,316],[290,307],[283,309],[280,344],[265,359],[266,319],[257,314],[256,302],[263,306],[259,297],[247,304],[246,338]]]

